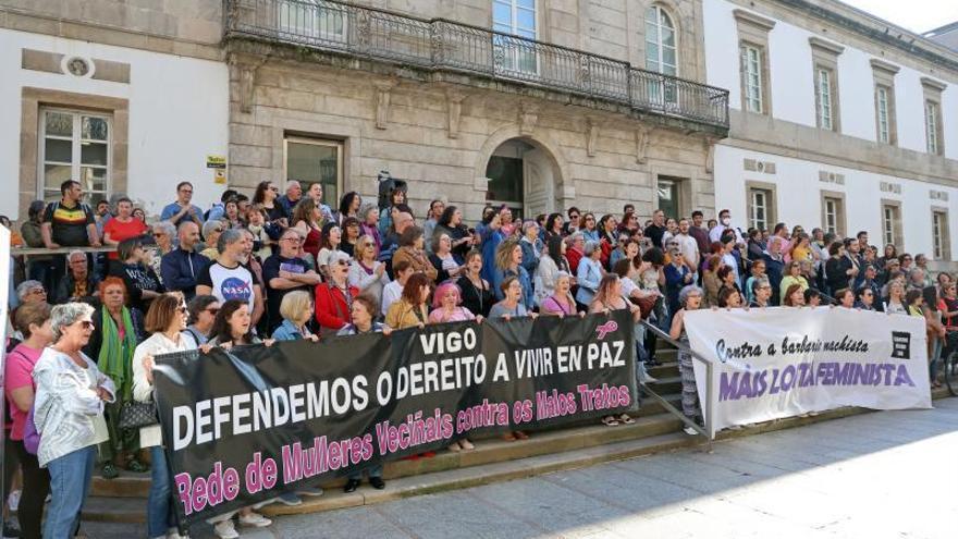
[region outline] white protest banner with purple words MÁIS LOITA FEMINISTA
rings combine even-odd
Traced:
[[[715,362],[711,388],[695,362],[713,430],[842,406],[932,405],[924,318],[837,307],[702,309],[686,313],[685,327],[692,350]]]

